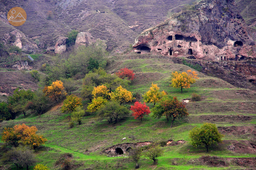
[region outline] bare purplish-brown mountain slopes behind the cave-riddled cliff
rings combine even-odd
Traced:
[[[59,36],[76,29],[90,32],[95,38],[107,41],[108,51],[124,51],[144,29],[166,20],[171,13],[179,12],[196,0],[1,0],[0,37],[18,29],[27,38],[38,41],[40,49],[54,46]],[[247,23],[255,21],[255,0],[239,1],[239,10]],[[241,5],[242,4],[242,5]],[[250,15],[247,17],[247,5]],[[27,21],[12,27],[6,20],[9,9],[20,6],[27,12]],[[107,13],[97,13],[96,10]],[[52,19],[47,19],[52,11]],[[253,30],[253,29],[252,29]]]

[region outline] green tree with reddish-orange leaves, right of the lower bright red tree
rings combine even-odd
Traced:
[[[169,121],[169,119],[171,118],[172,124],[175,119],[181,118],[183,116],[188,116],[188,112],[187,109],[185,108],[185,105],[182,104],[176,97],[174,97],[173,99],[163,99],[152,109],[152,113],[153,117],[157,118],[165,116],[167,121]]]

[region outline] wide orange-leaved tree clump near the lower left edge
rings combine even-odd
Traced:
[[[5,128],[2,133],[2,140],[14,146],[22,144],[35,149],[47,141],[42,135],[36,135],[36,132],[36,126],[29,127],[25,124],[19,124],[14,127]]]

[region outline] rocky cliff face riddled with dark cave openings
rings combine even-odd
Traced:
[[[139,35],[137,53],[191,56],[205,60],[256,58],[256,46],[234,0],[203,0]]]

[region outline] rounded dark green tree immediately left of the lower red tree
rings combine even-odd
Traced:
[[[117,123],[123,116],[129,114],[129,110],[117,102],[108,102],[97,111],[97,114],[99,117],[107,119],[109,123],[113,121]]]

